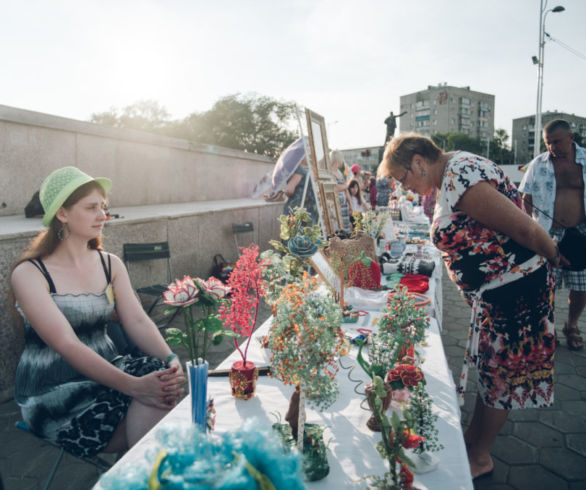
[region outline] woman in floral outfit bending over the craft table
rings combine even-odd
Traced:
[[[463,396],[473,364],[478,395],[464,439],[472,477],[490,475],[490,449],[510,410],[553,403],[550,264],[563,259],[521,209],[515,186],[485,158],[445,153],[431,139],[410,133],[389,142],[379,171],[422,196],[439,190],[431,239],[473,312],[458,391]]]

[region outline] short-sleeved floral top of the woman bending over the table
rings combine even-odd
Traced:
[[[513,239],[456,209],[464,193],[480,182],[494,182],[497,190],[521,207],[517,188],[493,162],[468,152],[448,161],[434,209],[431,239],[442,252],[450,279],[472,303],[483,285],[515,272],[535,253]]]

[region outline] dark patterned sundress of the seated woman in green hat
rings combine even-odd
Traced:
[[[104,255],[109,263],[109,255]],[[134,376],[163,369],[164,363],[154,357],[119,355],[107,335],[115,302],[108,299],[110,268],[104,255],[100,252],[108,287],[100,294],[58,294],[42,261],[33,263],[45,275],[53,301],[83,343]],[[34,434],[74,455],[96,455],[110,442],[131,398],[77,372],[41,340],[18,305],[17,309],[24,319],[26,345],[16,371],[14,397],[24,421]]]

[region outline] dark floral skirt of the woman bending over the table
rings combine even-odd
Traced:
[[[554,281],[548,266],[485,291],[478,344],[478,392],[500,409],[553,403]]]

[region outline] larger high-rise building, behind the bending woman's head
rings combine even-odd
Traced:
[[[415,131],[426,136],[435,133],[463,133],[482,140],[494,135],[494,95],[452,87],[429,85],[400,98],[401,132]]]

